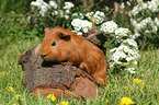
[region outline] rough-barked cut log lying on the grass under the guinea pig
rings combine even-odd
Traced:
[[[19,58],[19,65],[25,71],[23,83],[30,94],[37,95],[38,90],[43,95],[53,93],[57,98],[96,96],[98,89],[87,72],[71,65],[44,61],[39,47],[24,51]]]

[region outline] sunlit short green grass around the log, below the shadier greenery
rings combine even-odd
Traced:
[[[46,102],[46,96],[33,96],[25,93],[26,88],[23,84],[24,71],[18,65],[19,56],[26,49],[42,43],[38,37],[26,38],[12,42],[5,48],[0,50],[0,104],[12,105],[50,105]],[[159,49],[148,49],[140,52],[138,70],[136,74],[107,74],[107,86],[98,88],[98,96],[84,101],[69,98],[70,105],[118,105],[122,97],[129,97],[136,105],[159,105]],[[136,90],[133,86],[134,79],[141,79],[145,88]],[[14,92],[9,92],[12,86]],[[127,86],[127,91],[124,89]],[[21,98],[15,100],[20,94]],[[12,98],[14,97],[14,98]],[[24,101],[22,101],[24,98]],[[105,102],[105,98],[109,102]],[[59,103],[59,102],[55,102]],[[54,104],[52,104],[54,105]]]

